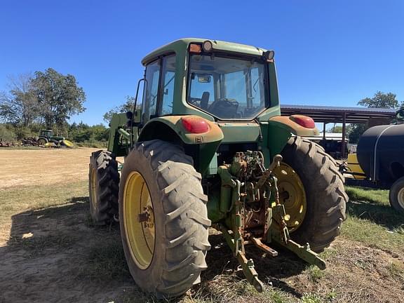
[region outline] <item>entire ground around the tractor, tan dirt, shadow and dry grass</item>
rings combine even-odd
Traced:
[[[119,227],[90,220],[93,150],[0,149],[0,303],[157,301],[128,274]],[[404,302],[404,216],[387,191],[347,191],[348,219],[322,253],[325,271],[248,248],[265,284],[258,293],[212,234],[202,283],[172,302]]]

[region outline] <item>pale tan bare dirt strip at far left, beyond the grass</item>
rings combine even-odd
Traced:
[[[97,149],[0,149],[0,189],[85,180],[91,152]]]

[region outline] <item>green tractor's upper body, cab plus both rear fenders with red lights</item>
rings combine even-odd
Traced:
[[[281,117],[274,50],[180,39],[149,53],[142,64],[133,141],[183,142],[201,173],[214,175],[217,163],[247,149],[260,150],[269,166],[291,135],[318,133],[309,117]],[[269,132],[269,126],[280,130]],[[210,161],[215,152],[219,157]]]

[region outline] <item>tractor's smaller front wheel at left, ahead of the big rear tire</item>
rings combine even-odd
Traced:
[[[92,174],[93,169],[95,175]],[[95,188],[92,178],[95,177]],[[93,193],[93,190],[95,192]],[[106,151],[93,152],[88,172],[90,215],[96,225],[109,224],[118,214],[119,173],[115,155]]]

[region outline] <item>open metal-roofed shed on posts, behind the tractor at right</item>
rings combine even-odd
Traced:
[[[281,115],[303,114],[316,123],[323,123],[323,135],[327,123],[342,123],[342,142],[346,140],[346,123],[365,124],[369,119],[393,119],[396,109],[368,107],[330,107],[314,105],[281,105]],[[341,144],[341,154],[345,154],[345,144]]]

